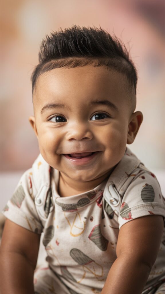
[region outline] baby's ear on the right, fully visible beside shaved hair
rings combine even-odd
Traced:
[[[132,113],[128,125],[127,144],[132,144],[134,142],[142,121],[143,114],[141,111]]]

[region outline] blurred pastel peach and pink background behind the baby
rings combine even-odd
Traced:
[[[45,34],[97,26],[126,44],[138,70],[137,108],[144,121],[129,148],[165,194],[165,1],[1,0],[1,209],[39,153],[28,122],[31,73]]]

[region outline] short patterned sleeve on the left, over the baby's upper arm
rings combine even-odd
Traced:
[[[31,168],[21,177],[13,196],[7,202],[2,213],[17,225],[34,233],[41,234],[43,226],[36,210],[35,194],[36,188]]]

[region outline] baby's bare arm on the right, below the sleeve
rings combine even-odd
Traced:
[[[144,216],[125,223],[101,294],[141,294],[161,243],[163,217]]]

